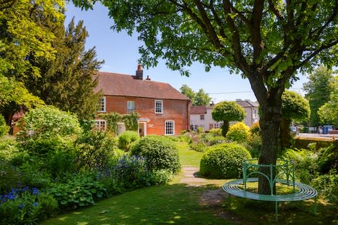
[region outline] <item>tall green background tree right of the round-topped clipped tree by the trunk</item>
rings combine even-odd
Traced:
[[[332,70],[322,65],[316,68],[308,77],[309,81],[303,84],[303,89],[306,91],[305,98],[310,103],[310,124],[312,127],[317,127],[321,124],[318,109],[329,101],[330,93],[333,91],[332,86],[330,86],[332,78]]]

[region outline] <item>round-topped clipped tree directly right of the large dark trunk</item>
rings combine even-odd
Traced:
[[[308,101],[294,91],[284,91],[282,94],[282,121],[280,122],[281,148],[289,148],[291,136],[289,127],[292,121],[306,120],[310,116]]]

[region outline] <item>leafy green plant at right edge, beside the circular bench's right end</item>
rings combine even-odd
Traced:
[[[312,185],[329,203],[338,203],[338,174],[332,169],[329,174],[324,174],[313,179]]]

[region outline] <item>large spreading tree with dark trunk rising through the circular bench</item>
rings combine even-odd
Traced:
[[[73,0],[92,7],[94,0]],[[304,71],[337,62],[337,1],[101,0],[117,31],[139,33],[141,63],[187,75],[193,61],[230,68],[249,79],[261,105],[260,164],[277,160],[282,93]],[[265,169],[266,170],[266,169]],[[270,174],[270,170],[263,171]],[[259,193],[270,193],[260,176]]]

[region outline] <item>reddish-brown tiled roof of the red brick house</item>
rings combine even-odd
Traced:
[[[94,91],[102,91],[108,96],[132,96],[142,98],[160,98],[189,100],[167,83],[154,82],[149,79],[134,79],[131,75],[112,72],[98,72],[94,79],[98,85]]]

